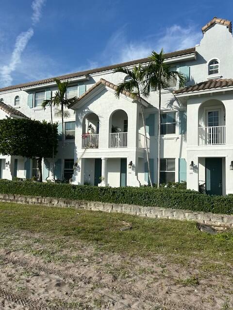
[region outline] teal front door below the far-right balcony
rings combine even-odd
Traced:
[[[205,158],[206,194],[222,195],[222,158]]]

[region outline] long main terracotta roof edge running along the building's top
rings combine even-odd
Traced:
[[[173,57],[177,57],[177,56],[188,55],[188,54],[191,54],[191,53],[195,53],[195,47],[191,47],[191,48],[187,48],[187,49],[183,49],[183,50],[178,50],[178,51],[175,51],[175,52],[167,53],[166,54],[166,58],[173,58]],[[130,61],[130,62],[117,63],[117,64],[113,64],[113,65],[105,66],[105,67],[100,67],[100,68],[96,68],[96,69],[91,69],[91,70],[86,70],[86,71],[70,73],[70,74],[66,74],[66,75],[63,75],[63,76],[56,77],[56,78],[58,78],[58,79],[77,78],[77,77],[85,76],[85,75],[92,74],[92,73],[98,73],[98,72],[102,72],[102,71],[112,70],[112,69],[115,69],[118,66],[130,66],[130,65],[134,65],[134,64],[137,64],[137,63],[144,63],[144,62],[149,62],[149,59],[148,58],[142,58],[142,59],[137,59],[137,60],[133,60],[133,61]],[[17,89],[17,88],[23,88],[23,87],[30,87],[30,86],[35,86],[35,85],[46,84],[46,83],[50,83],[50,82],[53,82],[53,81],[54,81],[54,78],[41,79],[41,80],[38,80],[38,81],[22,83],[22,84],[18,84],[18,85],[13,85],[13,86],[8,86],[8,87],[0,88],[0,92],[9,91],[9,90]]]

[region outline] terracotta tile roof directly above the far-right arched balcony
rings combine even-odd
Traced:
[[[230,86],[233,86],[233,78],[216,78],[192,86],[181,88],[177,91],[174,91],[173,93],[191,93]]]

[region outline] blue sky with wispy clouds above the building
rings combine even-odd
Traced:
[[[193,47],[225,0],[1,0],[0,87]]]

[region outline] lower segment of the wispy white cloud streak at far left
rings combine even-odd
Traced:
[[[16,39],[15,48],[11,55],[11,60],[8,65],[4,65],[1,68],[1,85],[8,86],[12,83],[13,78],[11,77],[12,72],[16,69],[17,64],[20,63],[21,54],[28,44],[28,41],[33,36],[33,29],[30,28],[26,32],[21,32]]]

